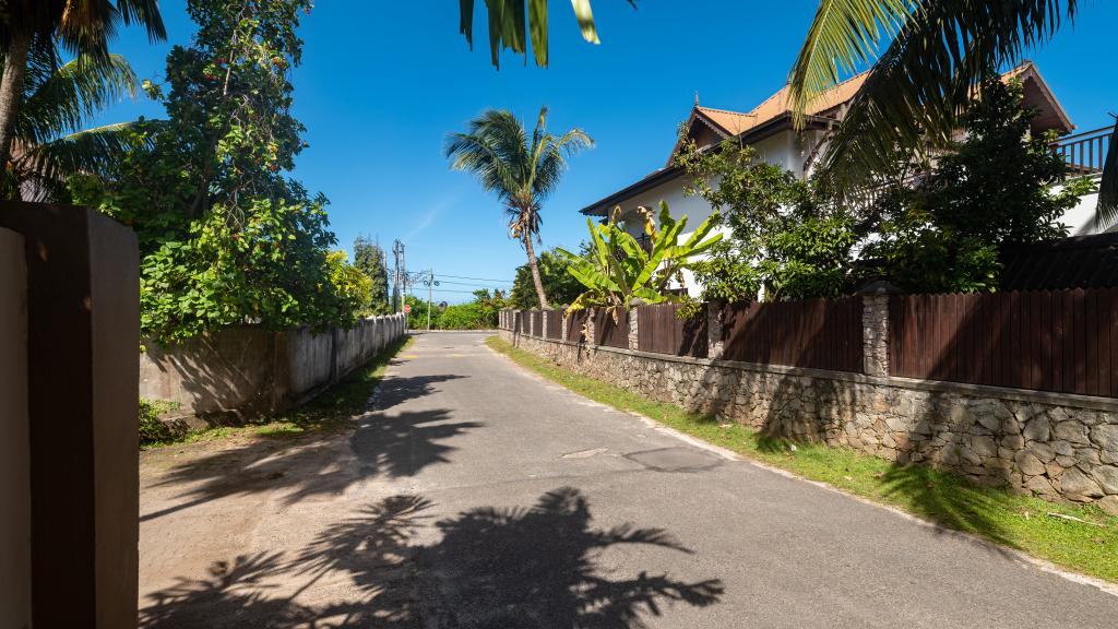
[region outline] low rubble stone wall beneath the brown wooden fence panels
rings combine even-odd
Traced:
[[[674,357],[515,335],[556,364],[797,440],[1118,510],[1118,401]],[[874,348],[877,349],[877,347]]]

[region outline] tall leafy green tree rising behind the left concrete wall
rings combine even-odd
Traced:
[[[142,327],[158,340],[357,317],[356,275],[329,257],[325,198],[285,175],[306,145],[290,73],[310,10],[310,0],[189,0],[197,34],[171,49],[165,85],[144,83],[168,120],[132,130],[141,148],[111,172],[72,185],[75,200],[138,232]]]

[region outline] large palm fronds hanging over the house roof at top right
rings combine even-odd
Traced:
[[[983,77],[1045,44],[1074,20],[1078,4],[822,0],[789,77],[799,123],[807,104],[841,74],[872,63],[818,166],[824,188],[841,196],[888,175],[899,152],[946,145]],[[1099,214],[1103,222],[1118,218],[1115,159],[1103,170]]]

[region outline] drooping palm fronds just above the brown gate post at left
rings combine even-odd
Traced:
[[[32,63],[12,126],[11,196],[58,200],[72,175],[103,173],[134,145],[136,123],[84,129],[85,123],[136,90],[132,67],[119,55]]]

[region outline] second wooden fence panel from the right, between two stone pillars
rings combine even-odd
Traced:
[[[722,358],[861,373],[862,298],[730,303]]]

